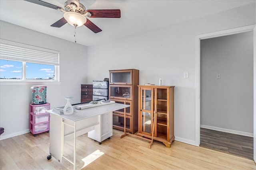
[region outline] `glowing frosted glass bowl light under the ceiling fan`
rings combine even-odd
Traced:
[[[86,23],[86,18],[77,12],[66,12],[64,18],[70,25],[80,27]]]

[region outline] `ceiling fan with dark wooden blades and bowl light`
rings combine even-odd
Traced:
[[[80,4],[79,0],[67,0],[64,4],[64,9],[44,2],[42,0],[25,0],[32,2],[34,4],[42,5],[48,8],[52,8],[61,12],[64,12],[64,17],[56,21],[51,25],[51,27],[62,27],[67,22],[73,25],[75,28],[82,25],[88,27],[94,33],[102,31],[98,26],[96,26],[89,18],[120,18],[121,11],[118,9],[114,10],[86,10],[86,8]]]

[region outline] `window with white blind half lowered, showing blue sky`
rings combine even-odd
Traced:
[[[59,52],[0,39],[0,81],[58,82]]]

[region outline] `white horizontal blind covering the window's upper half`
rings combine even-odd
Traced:
[[[0,39],[0,59],[59,65],[59,52]]]

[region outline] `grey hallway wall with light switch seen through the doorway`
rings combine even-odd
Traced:
[[[200,96],[201,125],[253,134],[253,31],[201,41]]]

